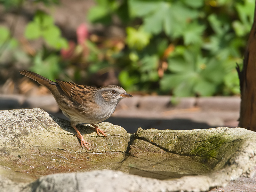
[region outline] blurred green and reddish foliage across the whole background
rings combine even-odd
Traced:
[[[24,2],[0,0],[6,10],[18,9]],[[59,3],[57,0],[35,2],[47,6]],[[68,41],[61,36],[53,18],[38,10],[24,31],[29,41],[44,40],[41,50],[26,51],[31,70],[50,79],[65,74],[78,81],[114,69],[126,91],[174,96],[240,93],[235,66],[236,63],[242,65],[254,18],[254,1],[96,2],[97,5],[89,10],[88,19],[106,27],[122,26],[126,38],[89,34],[87,26],[81,24],[76,30],[76,41]],[[17,50],[19,44],[11,28],[0,28],[0,65],[6,52],[24,55],[24,51]],[[68,73],[70,70],[72,74]]]

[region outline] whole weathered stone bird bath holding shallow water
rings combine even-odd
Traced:
[[[256,133],[243,128],[139,128],[130,137],[99,126],[108,140],[78,127],[91,152],[66,120],[39,108],[0,111],[0,191],[199,192],[254,173]]]

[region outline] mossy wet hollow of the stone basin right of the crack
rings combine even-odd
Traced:
[[[168,174],[202,174],[222,169],[244,142],[243,128],[197,130],[142,130],[130,150],[138,169]],[[130,158],[129,157],[129,158]],[[151,168],[150,168],[151,167]],[[156,175],[156,172],[154,173]],[[166,175],[167,176],[167,175]],[[155,176],[157,177],[157,176]]]

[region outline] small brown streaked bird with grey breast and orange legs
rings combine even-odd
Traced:
[[[86,145],[90,143],[84,140],[76,125],[79,123],[91,124],[94,127],[91,127],[92,130],[107,138],[105,131],[100,130],[94,123],[99,123],[110,117],[121,99],[132,97],[122,87],[116,85],[95,88],[58,79],[55,79],[56,82],[54,82],[27,70],[20,71],[20,74],[49,89],[63,114],[70,119],[71,126],[77,132],[76,136],[81,140],[81,146],[88,150],[92,150]]]

